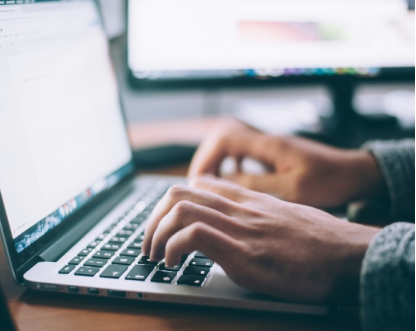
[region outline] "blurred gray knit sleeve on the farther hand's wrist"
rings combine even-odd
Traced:
[[[415,219],[415,141],[371,142],[364,146],[376,157],[391,198],[391,216]]]

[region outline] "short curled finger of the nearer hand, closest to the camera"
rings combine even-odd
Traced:
[[[166,245],[166,264],[178,265],[185,253],[201,251],[222,267],[240,260],[240,244],[235,239],[204,223],[194,223],[177,232]]]

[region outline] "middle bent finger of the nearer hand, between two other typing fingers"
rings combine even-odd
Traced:
[[[168,240],[182,229],[199,222],[232,237],[239,236],[244,231],[244,224],[229,216],[211,208],[182,201],[160,222],[152,239],[151,260],[161,261],[165,257]]]

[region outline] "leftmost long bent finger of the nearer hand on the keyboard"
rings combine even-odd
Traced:
[[[168,191],[150,217],[143,243],[143,254],[148,255],[150,253],[153,236],[160,221],[181,201],[203,205],[226,215],[234,214],[237,209],[235,202],[226,199],[224,196],[195,187],[175,186]]]

